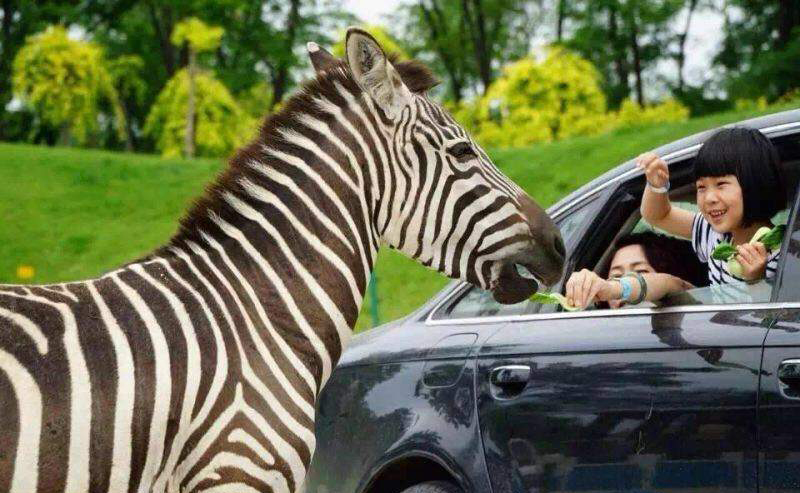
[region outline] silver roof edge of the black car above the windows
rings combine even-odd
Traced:
[[[738,122],[733,122],[719,127],[714,127],[708,130],[704,130],[702,132],[690,135],[688,137],[675,140],[673,142],[670,142],[669,144],[657,147],[653,149],[653,152],[655,152],[659,156],[666,156],[668,154],[673,154],[678,151],[691,148],[693,146],[705,142],[706,139],[708,139],[714,132],[716,132],[720,128],[746,126],[750,128],[757,128],[760,130],[763,128],[776,127],[779,125],[792,124],[798,122],[800,122],[800,109],[781,111],[779,113],[772,113],[770,115],[759,116],[757,118],[751,118],[749,120],[741,120]],[[603,173],[594,180],[578,188],[574,192],[570,193],[566,197],[562,198],[561,200],[550,206],[547,209],[547,212],[550,214],[558,214],[560,212],[565,212],[567,209],[570,208],[568,206],[572,205],[573,202],[579,202],[584,195],[587,195],[595,188],[598,188],[601,184],[613,182],[615,178],[618,178],[622,174],[633,169],[634,159],[635,158],[631,158],[630,160],[625,161],[621,165],[614,167],[613,169],[607,171],[606,173]]]

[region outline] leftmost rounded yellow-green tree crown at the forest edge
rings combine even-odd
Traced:
[[[59,128],[61,143],[86,143],[98,128],[101,104],[107,102],[124,138],[125,116],[102,49],[70,39],[61,26],[28,37],[14,59],[15,95],[38,117]]]

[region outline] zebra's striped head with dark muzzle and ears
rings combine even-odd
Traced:
[[[390,247],[450,277],[520,302],[560,276],[564,244],[551,219],[510,181],[425,92],[438,83],[416,61],[393,62],[367,32],[350,28],[343,65],[315,43],[319,76],[352,74],[385,139],[376,166],[374,227]]]

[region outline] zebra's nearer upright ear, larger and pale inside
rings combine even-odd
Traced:
[[[356,82],[391,119],[411,100],[411,91],[369,33],[351,27],[345,38],[347,64]]]

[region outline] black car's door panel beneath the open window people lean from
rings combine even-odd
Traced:
[[[765,300],[509,317],[476,359],[494,491],[757,491]]]

